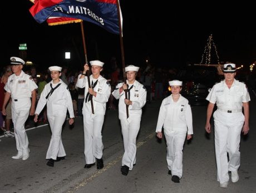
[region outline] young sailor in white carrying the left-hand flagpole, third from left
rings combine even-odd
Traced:
[[[83,104],[83,131],[85,137],[85,168],[95,165],[97,169],[102,169],[103,148],[102,125],[106,111],[106,103],[111,93],[110,83],[100,75],[104,65],[100,60],[90,62],[92,74],[90,75],[91,88],[88,88],[88,78],[85,76],[89,70],[87,64],[83,66],[83,73],[78,75],[76,86],[85,88],[85,101]],[[91,101],[93,103],[94,114],[92,113]]]

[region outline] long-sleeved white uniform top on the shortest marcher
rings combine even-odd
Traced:
[[[172,95],[170,95],[162,101],[156,133],[161,132],[164,125],[165,132],[188,129],[188,135],[192,135],[192,122],[192,113],[188,99],[180,95],[179,100],[175,103]]]

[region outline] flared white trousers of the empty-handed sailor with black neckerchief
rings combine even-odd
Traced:
[[[66,156],[65,149],[62,144],[61,131],[62,125],[66,120],[66,111],[57,111],[56,114],[47,111],[47,118],[52,131],[50,145],[46,153],[46,159],[56,160],[58,157]]]

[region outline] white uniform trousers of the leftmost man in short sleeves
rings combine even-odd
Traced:
[[[17,101],[15,101],[17,100]],[[16,148],[19,155],[28,155],[28,137],[25,130],[25,122],[29,115],[31,99],[12,99],[12,121],[14,125],[14,136]]]

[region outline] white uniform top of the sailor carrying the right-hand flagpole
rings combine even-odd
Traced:
[[[119,89],[122,87],[123,83],[116,85],[116,89],[112,92],[112,95],[119,100],[119,119],[125,119],[126,116],[126,105],[125,105],[125,92],[119,93]],[[128,85],[128,84],[127,84]],[[146,103],[146,88],[144,85],[140,84],[135,80],[134,86],[130,90],[130,100],[132,105],[129,105],[129,115],[138,115],[141,116],[141,108]]]

